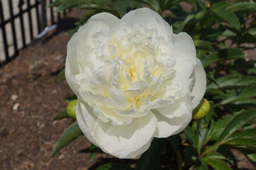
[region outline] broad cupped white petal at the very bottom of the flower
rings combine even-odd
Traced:
[[[118,158],[138,158],[153,140],[156,118],[152,113],[134,118],[128,125],[113,126],[95,121],[92,131],[98,147]]]

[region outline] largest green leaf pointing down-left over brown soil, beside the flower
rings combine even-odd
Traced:
[[[58,151],[64,148],[67,144],[70,144],[71,141],[76,139],[78,136],[82,136],[82,131],[80,130],[78,123],[75,122],[73,125],[70,125],[69,128],[62,133],[62,136],[58,139],[57,143],[54,146],[53,151],[50,154],[50,157],[53,157]]]

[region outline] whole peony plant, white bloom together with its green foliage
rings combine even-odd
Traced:
[[[78,100],[76,121],[51,156],[84,134],[88,161],[102,150],[138,159],[135,169],[234,169],[236,150],[256,166],[256,61],[246,57],[256,47],[255,1],[50,6],[86,9],[68,33],[65,74],[74,96],[65,100]],[[191,121],[193,111],[200,118]],[[134,169],[117,163],[96,168]]]

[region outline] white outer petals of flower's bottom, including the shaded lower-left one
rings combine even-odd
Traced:
[[[92,108],[78,100],[77,121],[88,140],[104,152],[118,158],[138,158],[150,146],[156,130],[157,119],[148,113],[134,118],[129,125],[113,126],[95,117]]]

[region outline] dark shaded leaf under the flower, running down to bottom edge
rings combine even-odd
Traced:
[[[162,155],[165,148],[166,140],[162,138],[154,138],[150,144],[150,148],[142,154],[136,164],[136,170],[153,170],[155,163]]]

